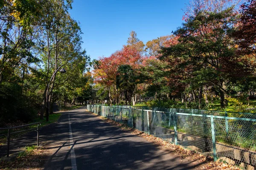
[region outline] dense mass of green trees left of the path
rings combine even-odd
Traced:
[[[88,96],[90,57],[71,3],[0,0],[1,123],[44,119],[47,101],[52,112],[52,103],[74,105]]]

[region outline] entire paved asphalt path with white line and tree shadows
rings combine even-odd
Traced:
[[[109,125],[85,107],[64,112],[58,123],[41,131],[41,142],[48,142],[53,150],[45,170],[194,170],[199,166]]]

